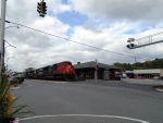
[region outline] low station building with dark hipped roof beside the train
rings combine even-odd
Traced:
[[[120,67],[114,65],[108,65],[99,62],[96,63],[95,61],[85,63],[78,62],[74,65],[74,67],[77,77],[86,79],[117,79],[115,72],[121,71]]]

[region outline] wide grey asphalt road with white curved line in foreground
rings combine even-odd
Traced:
[[[163,123],[163,93],[151,85],[26,79],[12,90],[35,115],[20,123]]]

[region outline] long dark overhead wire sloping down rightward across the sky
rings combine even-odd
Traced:
[[[67,38],[64,38],[64,37],[61,37],[61,36],[57,36],[57,35],[53,35],[53,34],[43,32],[43,30],[39,30],[39,29],[33,28],[33,27],[29,27],[29,26],[25,26],[25,25],[23,25],[23,24],[17,24],[17,23],[15,23],[15,22],[10,22],[10,21],[5,21],[5,22],[7,22],[7,23],[16,24],[16,25],[18,25],[18,26],[26,27],[26,28],[29,28],[29,29],[33,29],[33,30],[36,30],[36,32],[39,32],[39,33],[42,33],[42,34],[46,34],[46,35],[49,35],[49,36],[58,37],[58,38],[61,38],[61,39],[64,39],[64,40],[68,40],[68,41],[75,42],[75,44],[79,44],[79,45],[83,45],[83,46],[87,46],[87,47],[90,47],[90,48],[93,48],[93,49],[99,49],[99,50],[103,50],[103,51],[116,53],[116,54],[120,54],[120,56],[130,57],[130,58],[138,58],[138,57],[128,56],[128,54],[124,54],[124,53],[120,53],[120,52],[115,52],[115,51],[105,50],[105,49],[98,48],[98,47],[90,46],[90,45],[86,45],[86,44],[83,44],[83,42],[74,41],[74,40],[71,40],[71,39],[67,39]],[[143,59],[143,58],[138,58],[138,59]]]

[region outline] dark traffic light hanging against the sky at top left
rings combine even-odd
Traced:
[[[41,1],[37,3],[37,12],[39,13],[39,16],[45,17],[45,14],[47,14],[46,2]]]

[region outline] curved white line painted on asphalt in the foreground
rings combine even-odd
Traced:
[[[20,121],[30,120],[30,119],[40,119],[40,118],[51,118],[51,116],[95,116],[95,118],[114,118],[114,119],[124,119],[129,121],[137,121],[140,123],[149,123],[148,121],[142,121],[138,119],[131,119],[126,116],[117,116],[117,115],[96,115],[96,114],[55,114],[55,115],[37,115],[37,116],[30,116],[30,118],[24,118]]]

